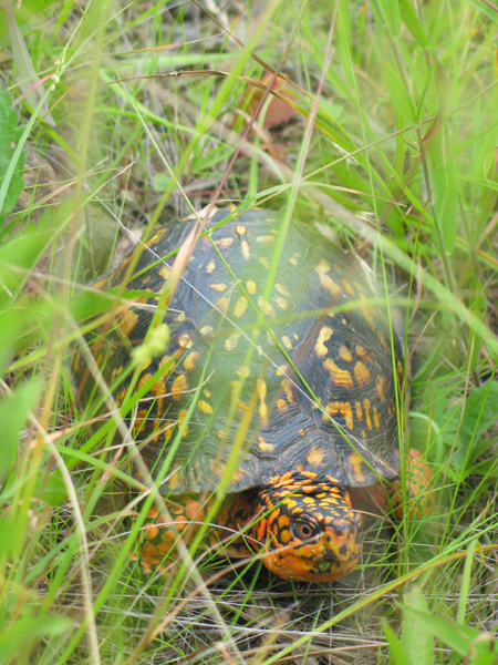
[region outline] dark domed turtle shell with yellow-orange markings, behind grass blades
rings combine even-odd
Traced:
[[[194,224],[170,223],[147,243],[127,285],[144,297],[120,308],[106,350],[100,347],[118,403],[172,253]],[[106,286],[122,284],[131,260]],[[165,493],[209,490],[227,474],[228,492],[293,470],[345,487],[398,474],[398,337],[367,269],[310,225],[292,221],[286,231],[270,211],[218,211],[164,323],[169,342],[141,368],[131,422],[151,470],[169,464]]]

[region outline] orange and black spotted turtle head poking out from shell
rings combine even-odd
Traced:
[[[308,471],[272,478],[259,493],[263,516],[252,534],[264,565],[284,580],[331,582],[351,573],[362,552],[361,516],[344,488]]]

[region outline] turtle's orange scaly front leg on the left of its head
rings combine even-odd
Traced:
[[[166,501],[168,513],[159,513],[154,505],[143,525],[143,542],[136,555],[144,575],[164,572],[165,557],[175,549],[179,536],[191,538],[206,518],[209,508],[197,494],[180,494]]]

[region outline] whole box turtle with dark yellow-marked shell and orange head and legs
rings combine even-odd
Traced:
[[[208,222],[164,315],[167,348],[138,368],[132,431],[168,507],[149,512],[139,561],[160,567],[229,474],[210,543],[229,534],[231,555],[261,552],[280,577],[329,582],[362,550],[350,494],[360,508],[401,510],[402,347],[359,260],[304,223],[284,232],[272,212],[230,214]],[[107,341],[91,345],[118,405],[172,274],[164,257],[194,224],[147,243],[127,285],[144,297],[116,308]],[[121,285],[132,259],[100,286]],[[81,357],[74,367],[81,378]],[[417,451],[406,459],[415,518],[430,508],[432,472]]]

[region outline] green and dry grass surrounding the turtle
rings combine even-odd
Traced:
[[[0,126],[0,662],[497,662],[496,8],[13,10],[10,37],[0,10],[11,99],[35,82],[30,63],[56,79],[44,81],[44,106],[42,94],[15,105],[20,130]],[[293,83],[295,114],[267,132],[260,119],[242,141],[242,93],[262,63]],[[24,140],[54,182],[27,171],[11,211]],[[108,451],[122,417],[74,403],[70,358],[113,301],[85,285],[125,255],[131,232],[144,238],[215,193],[317,221],[367,260],[407,324],[409,440],[435,470],[436,509],[423,523],[373,522],[359,571],[331,587],[258,563],[224,576],[230,564],[201,550],[188,573],[185,550],[166,583],[142,580],[127,563],[141,524],[129,515],[143,519],[146,502],[129,491],[126,458]]]

